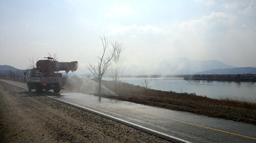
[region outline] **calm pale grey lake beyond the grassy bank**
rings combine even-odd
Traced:
[[[256,82],[184,80],[183,78],[146,78],[151,89],[177,93],[196,93],[216,99],[256,102]],[[123,82],[141,85],[144,78],[122,78]]]

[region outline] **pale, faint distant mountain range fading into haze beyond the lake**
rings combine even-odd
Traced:
[[[124,67],[124,75],[166,75],[166,74],[193,74],[212,69],[234,68],[217,60],[197,61],[186,58],[174,58],[160,61],[156,64],[130,65]]]

